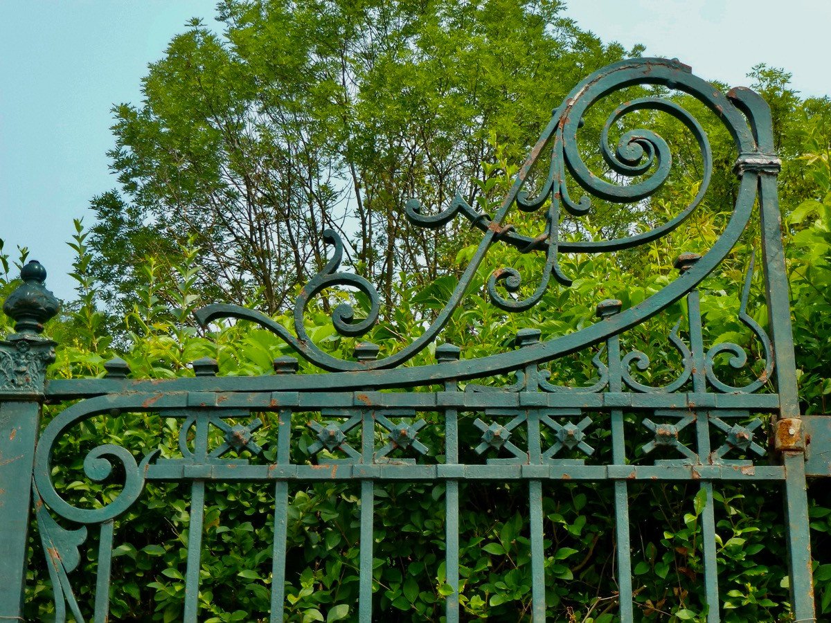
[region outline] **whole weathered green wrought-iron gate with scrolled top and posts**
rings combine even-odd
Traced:
[[[558,254],[607,253],[649,243],[677,228],[698,207],[713,168],[710,144],[696,119],[660,93],[622,103],[602,130],[603,158],[615,174],[631,181],[612,184],[592,174],[584,163],[576,141],[584,113],[601,98],[630,86],[662,86],[696,98],[719,118],[735,140],[738,192],[717,242],[701,256],[681,254],[676,262],[677,277],[637,305],[622,309],[617,300],[597,302],[597,321],[579,331],[541,341],[539,331],[525,329],[517,334],[514,350],[478,359],[465,359],[455,346],[442,344],[435,346],[435,364],[404,365],[438,340],[494,243],[512,245],[522,253],[544,254],[542,282],[529,297],[521,298],[519,272],[513,268],[495,272],[488,283],[496,307],[504,312],[523,311],[540,300],[551,277],[568,284],[568,277],[559,268]],[[608,146],[609,131],[614,130],[617,121],[637,110],[659,110],[691,132],[701,150],[701,188],[680,213],[648,232],[599,242],[564,239],[558,233],[561,208],[563,213],[579,218],[591,207],[589,199],[574,201],[569,196],[567,171],[568,177],[589,194],[618,203],[642,202],[666,180],[671,159],[660,136],[648,130],[632,130],[621,136],[617,150]],[[67,609],[77,621],[84,619],[69,573],[79,563],[78,547],[85,541],[87,531],[100,532],[94,616],[95,621],[106,621],[111,557],[117,540],[114,521],[140,500],[145,483],[174,481],[189,483],[192,490],[184,620],[196,621],[205,488],[219,481],[233,481],[273,483],[271,620],[282,621],[289,487],[293,483],[335,479],[360,483],[360,600],[354,611],[360,621],[382,618],[371,611],[376,486],[390,481],[445,483],[445,572],[452,589],[446,598],[446,617],[447,621],[459,621],[460,483],[527,483],[533,615],[534,621],[543,621],[547,588],[543,568],[543,484],[570,479],[606,481],[614,489],[622,621],[635,620],[628,518],[628,491],[632,483],[688,480],[700,488],[704,501],[701,521],[708,621],[720,620],[714,488],[725,481],[779,483],[787,508],[794,619],[814,621],[805,478],[806,467],[808,475],[829,474],[825,452],[831,442],[831,429],[827,420],[800,417],[776,194],[779,159],[773,151],[770,111],[752,91],[738,88],[721,93],[693,76],[689,67],[665,59],[622,61],[597,71],[554,110],[552,120],[493,217],[479,213],[460,197],[449,208],[433,215],[422,213],[417,202],[407,205],[407,214],[417,225],[440,228],[451,218],[464,217],[482,231],[482,237],[445,307],[424,333],[401,351],[379,358],[377,346],[361,343],[354,361],[342,361],[309,339],[303,312],[307,302],[327,287],[354,287],[371,301],[369,316],[360,321],[353,318],[348,306],[334,310],[332,322],[340,334],[365,334],[379,314],[379,297],[371,283],[339,272],[342,243],[332,231],[325,236],[335,248],[334,255],[327,267],[302,289],[295,309],[294,333],[268,316],[234,305],[211,305],[199,312],[203,325],[227,317],[258,323],[327,373],[297,374],[297,361],[284,357],[274,361],[275,375],[223,377],[217,375],[215,361],[203,359],[193,362],[195,378],[140,380],[127,378],[130,370],[125,363],[113,360],[106,365],[105,378],[46,380],[46,366],[54,359],[56,344],[41,335],[42,325],[57,312],[57,301],[43,286],[45,271],[37,262],[30,262],[22,269],[22,286],[8,297],[3,308],[17,321],[17,332],[0,344],[0,618],[22,616],[32,499],[59,621],[65,619]],[[543,176],[538,194],[530,197],[524,184],[543,155],[550,155],[548,175]],[[525,211],[547,210],[543,234],[537,238],[524,236],[506,224],[514,206]],[[735,387],[720,380],[715,357],[726,353],[732,358],[731,365],[738,368],[745,365],[745,351],[725,343],[707,348],[702,337],[697,288],[735,247],[754,215],[760,222],[770,339],[746,310],[753,272],[752,259],[747,258],[751,267],[740,319],[758,337],[765,364],[759,378],[744,387]],[[507,295],[502,293],[505,291]],[[621,336],[679,301],[686,302],[686,323],[676,325],[669,339],[681,354],[683,369],[668,385],[645,385],[633,374],[631,366],[646,370],[648,358],[640,351],[622,353]],[[686,338],[682,339],[682,335]],[[592,386],[555,385],[540,367],[594,346],[601,348],[594,359],[598,380]],[[484,387],[468,383],[460,390],[460,381],[509,372],[516,376],[514,385]],[[386,391],[413,388],[418,390]],[[44,400],[71,405],[41,429]],[[120,464],[125,473],[120,494],[101,508],[78,508],[67,503],[52,483],[53,445],[86,419],[121,412],[153,412],[178,419],[179,456],[161,457],[158,451],[150,451],[137,462],[128,449],[101,445],[84,459],[86,474],[101,480],[115,464]],[[309,422],[317,435],[309,451],[318,458],[315,464],[298,464],[290,456],[292,421],[310,412],[319,415]],[[428,424],[422,417],[425,413],[437,415],[437,423]],[[258,454],[252,434],[261,424],[257,416],[262,414],[278,420],[276,459],[254,464],[223,458],[231,449],[248,449],[251,454]],[[766,447],[766,424],[770,424],[770,448]],[[428,425],[440,427],[444,448],[428,448],[422,443],[419,434]],[[652,463],[634,461],[627,454],[625,440],[627,435],[634,434],[636,425],[651,435],[640,450],[642,454],[660,448],[671,458]],[[588,444],[587,431],[592,427],[604,427],[607,431],[602,443],[608,445],[610,460],[587,462],[586,457],[595,450]],[[479,431],[476,453],[489,456],[479,463],[460,460],[464,457],[460,430],[471,428]],[[211,430],[211,439],[219,431],[222,443],[218,447],[210,447]],[[806,463],[805,440],[809,433],[813,436],[814,452]],[[189,437],[194,439],[193,446]],[[335,453],[342,458],[332,459]],[[402,453],[408,456],[394,458]],[[766,453],[775,460],[755,460]],[[442,455],[444,459],[427,461],[427,455]],[[583,458],[579,458],[581,455]]]

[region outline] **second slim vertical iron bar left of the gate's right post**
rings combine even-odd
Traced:
[[[618,307],[619,309],[619,307]],[[608,356],[609,391],[622,390],[620,336],[606,341]],[[623,411],[612,409],[612,463],[626,464],[626,438],[623,430]],[[632,606],[632,547],[629,535],[629,483],[615,481],[615,542],[617,545],[617,590],[621,621],[634,621]]]

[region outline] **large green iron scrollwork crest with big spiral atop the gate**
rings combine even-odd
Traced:
[[[545,262],[542,277],[537,287],[534,288],[534,292],[528,297],[519,298],[523,277],[514,267],[504,267],[494,272],[488,282],[491,301],[504,311],[521,312],[534,307],[542,299],[552,277],[563,285],[568,286],[570,283],[568,276],[559,267],[560,253],[606,253],[648,243],[677,228],[701,204],[707,192],[711,179],[712,155],[706,134],[687,110],[674,101],[661,97],[642,97],[627,101],[617,106],[603,125],[600,145],[602,157],[615,173],[622,175],[629,180],[629,183],[612,184],[601,179],[593,174],[583,162],[578,150],[577,132],[586,112],[597,101],[629,86],[637,85],[667,87],[695,97],[723,122],[735,140],[735,146],[740,154],[752,155],[758,151],[754,136],[758,124],[754,115],[760,115],[762,114],[760,111],[766,109],[763,103],[760,103],[759,96],[752,91],[734,90],[725,95],[715,90],[710,83],[693,76],[688,66],[676,60],[644,58],[621,61],[589,76],[575,87],[565,101],[554,110],[552,119],[543,130],[537,144],[534,145],[529,159],[514,176],[509,191],[493,216],[479,213],[459,194],[447,208],[434,214],[425,213],[416,200],[411,200],[406,204],[407,217],[418,226],[439,228],[449,223],[452,218],[462,216],[479,228],[483,235],[454,291],[450,294],[445,307],[435,317],[435,321],[400,351],[371,360],[347,361],[322,351],[309,339],[303,326],[303,313],[311,298],[328,287],[354,287],[366,295],[370,301],[370,310],[366,318],[361,320],[356,320],[351,306],[342,304],[336,307],[332,313],[332,325],[340,335],[364,335],[378,318],[379,300],[375,288],[363,277],[339,270],[342,259],[342,241],[332,230],[327,230],[325,237],[328,243],[334,245],[335,253],[323,271],[303,287],[297,298],[294,308],[294,332],[288,331],[286,327],[260,312],[235,305],[204,307],[196,314],[199,322],[205,326],[210,321],[223,317],[254,321],[268,331],[273,331],[294,351],[324,370],[396,368],[416,356],[439,336],[455,309],[459,307],[485,255],[495,242],[512,245],[521,253],[544,251]],[[647,232],[610,240],[560,240],[558,226],[561,207],[567,213],[580,217],[591,211],[591,197],[617,203],[638,202],[650,197],[661,188],[661,184],[666,182],[672,159],[669,146],[661,136],[647,129],[628,130],[619,138],[617,145],[612,147],[609,143],[612,127],[616,126],[623,117],[637,110],[656,110],[671,115],[680,121],[696,140],[703,162],[701,184],[696,196],[690,204],[682,208],[666,223]],[[765,120],[761,121],[766,123]],[[548,176],[539,192],[531,194],[529,189],[525,188],[529,172],[538,160],[544,157],[549,159]],[[568,193],[567,172],[570,178],[586,192],[577,202]],[[730,221],[725,225],[724,231],[711,250],[683,278],[676,279],[660,292],[656,292],[642,303],[618,314],[612,320],[598,322],[573,334],[541,342],[523,349],[521,353],[505,352],[484,357],[477,360],[475,365],[470,365],[470,362],[467,362],[468,365],[465,366],[439,364],[443,365],[442,370],[454,366],[459,367],[459,370],[456,370],[460,374],[458,378],[462,378],[462,375],[465,378],[488,375],[489,372],[502,371],[506,366],[511,370],[517,370],[532,362],[543,363],[565,352],[573,352],[581,346],[602,342],[608,336],[625,331],[661,312],[662,309],[696,287],[725,258],[745,229],[755,199],[757,172],[755,169],[742,169],[739,173],[740,189]],[[506,218],[514,206],[519,208],[519,212],[538,210],[547,206],[543,233],[532,238],[516,232],[510,224],[507,224]],[[411,371],[407,379],[415,380],[415,374]],[[386,385],[386,380],[392,384],[394,376],[380,375],[376,379],[377,386]],[[421,376],[428,379],[433,377],[434,373],[425,368]]]

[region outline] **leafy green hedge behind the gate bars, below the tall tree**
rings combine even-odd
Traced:
[[[499,181],[496,185],[504,184]],[[494,192],[498,192],[495,189]],[[813,206],[813,208],[812,208]],[[805,235],[821,235],[824,225],[810,221],[819,214],[814,204],[795,213],[794,226],[803,224]],[[813,211],[812,211],[813,210]],[[802,218],[800,218],[802,214]],[[796,223],[800,220],[800,223]],[[802,221],[810,223],[802,223]],[[588,226],[587,226],[588,227]],[[101,363],[112,354],[130,362],[136,377],[190,375],[187,363],[200,356],[219,359],[220,374],[272,373],[275,356],[287,354],[285,346],[267,331],[238,323],[211,336],[201,335],[190,321],[200,303],[192,284],[198,270],[198,249],[179,249],[179,260],[171,266],[172,280],[159,277],[160,262],[145,258],[144,285],[135,292],[134,307],[125,316],[128,350],[113,350],[101,335],[95,302],[88,293],[96,288],[85,273],[86,232],[81,223],[72,246],[77,259],[73,275],[78,282],[79,302],[62,321],[52,323],[53,335],[74,336],[70,346],[59,349],[61,358],[52,376],[98,375]],[[591,231],[591,230],[587,230]],[[710,232],[707,223],[694,223],[691,231]],[[715,235],[711,233],[711,235]],[[676,241],[677,242],[677,241]],[[467,356],[479,356],[509,345],[524,322],[535,322],[543,336],[574,331],[593,321],[593,302],[624,294],[631,305],[649,296],[671,278],[666,258],[672,241],[653,243],[646,252],[654,264],[620,263],[614,258],[565,257],[563,267],[575,277],[573,287],[553,288],[536,312],[508,318],[484,301],[483,270],[460,318],[450,324],[447,336],[460,344]],[[665,246],[666,245],[666,246]],[[503,252],[504,253],[504,252]],[[494,248],[494,262],[504,257]],[[663,258],[663,260],[661,259]],[[465,261],[465,250],[460,251]],[[528,269],[533,269],[529,262]],[[718,320],[732,310],[741,271],[730,267],[706,289],[707,314]],[[799,272],[799,271],[796,271]],[[598,275],[601,278],[598,280]],[[377,326],[369,338],[387,348],[412,335],[420,323],[418,305],[429,311],[446,300],[454,277],[440,277],[421,289],[402,279],[399,296],[404,305],[390,321]],[[6,288],[12,285],[6,283]],[[799,286],[799,283],[796,284]],[[720,296],[720,288],[734,292]],[[714,296],[709,296],[713,292]],[[638,327],[626,339],[649,351],[666,365],[652,370],[647,380],[659,382],[672,374],[671,353],[666,350],[666,332],[673,318],[686,313],[677,306],[665,320]],[[288,323],[287,317],[278,320]],[[338,356],[347,356],[353,342],[339,338],[329,328],[322,307],[312,307],[308,316],[310,334]],[[714,331],[725,328],[716,326]],[[797,324],[799,326],[799,324]],[[485,339],[483,339],[483,336]],[[747,346],[750,336],[742,336]],[[662,350],[663,349],[663,350]],[[425,355],[429,357],[429,355]],[[424,361],[427,361],[426,359]],[[302,364],[305,365],[305,364]],[[552,379],[573,385],[588,385],[596,370],[587,356],[565,358],[552,365]],[[804,387],[805,389],[805,387]],[[810,400],[810,395],[807,396]],[[47,420],[55,411],[47,408]],[[263,459],[273,460],[276,422],[261,415],[265,424],[258,431]],[[117,493],[117,487],[90,483],[82,474],[86,451],[102,442],[140,450],[160,447],[162,454],[176,453],[179,422],[158,415],[99,417],[61,439],[56,449],[54,478],[57,488],[73,503],[98,505]],[[430,427],[428,427],[429,429]],[[598,428],[603,428],[602,425]],[[435,433],[433,433],[435,434]],[[308,460],[311,434],[295,419],[293,460]],[[430,439],[425,439],[429,444]],[[474,440],[460,439],[462,447]],[[635,452],[629,449],[630,454]],[[436,458],[440,459],[440,458]],[[321,483],[290,493],[288,515],[287,613],[291,621],[352,620],[357,594],[360,522],[356,485]],[[613,568],[613,503],[607,485],[562,484],[543,492],[548,586],[548,616],[554,620],[617,621]],[[639,610],[651,621],[699,621],[704,616],[701,577],[701,493],[689,484],[662,484],[634,488],[631,493],[633,574]],[[181,616],[184,563],[188,541],[188,493],[174,484],[149,486],[143,503],[117,522],[116,551],[111,592],[112,615],[117,620],[176,621]],[[787,611],[784,578],[784,527],[779,508],[770,504],[762,488],[742,489],[725,485],[715,493],[718,558],[721,571],[722,611],[725,621],[777,621]],[[468,483],[461,492],[460,606],[465,617],[495,621],[528,618],[530,608],[530,550],[524,508],[527,490],[519,485]],[[273,489],[255,485],[217,483],[206,496],[200,609],[208,621],[264,619],[269,607],[271,542],[273,538]],[[814,530],[826,530],[822,522],[826,508],[815,507]],[[395,612],[400,620],[439,620],[449,587],[444,576],[444,491],[428,484],[388,484],[376,488],[375,561],[373,590],[378,611]],[[824,514],[825,513],[825,514]],[[831,531],[831,530],[829,530]],[[83,572],[95,571],[95,539],[85,545]],[[33,544],[34,551],[38,550]],[[207,553],[209,552],[209,553]],[[36,558],[37,560],[37,558]],[[30,571],[28,616],[48,618],[51,611],[45,569],[35,564]],[[824,579],[829,576],[828,579]],[[831,574],[819,568],[818,587],[827,592]],[[80,584],[83,582],[81,581]],[[82,589],[81,601],[91,599],[91,587]],[[831,603],[831,598],[829,598]],[[828,605],[824,604],[824,608]]]

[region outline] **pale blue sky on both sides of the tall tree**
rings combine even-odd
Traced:
[[[568,17],[603,41],[676,56],[732,86],[759,62],[794,74],[804,96],[831,94],[831,1],[568,0]],[[140,101],[140,80],[190,17],[213,22],[211,0],[0,0],[0,238],[73,297],[73,218],[116,186],[107,169],[111,106]]]

